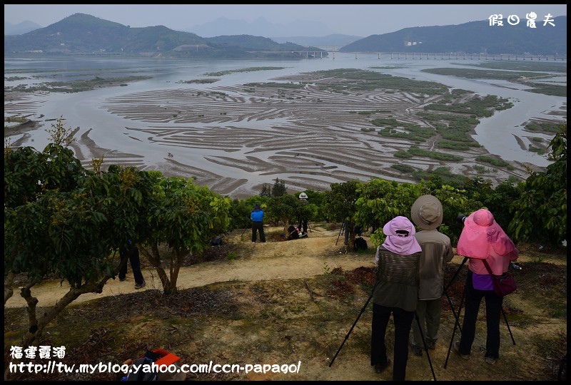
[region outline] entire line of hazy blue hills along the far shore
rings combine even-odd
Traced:
[[[224,21],[228,22],[228,19],[217,19],[202,27],[205,31],[206,26],[216,29]],[[406,28],[365,38],[330,34],[323,37],[270,39],[249,34],[201,37],[191,32],[173,31],[165,26],[131,28],[91,15],[74,14],[45,28],[16,36],[5,34],[4,56],[115,53],[183,58],[300,58],[301,51],[321,52],[315,57],[326,57],[327,50],[321,48],[328,46],[335,46],[341,52],[531,53],[566,56],[567,16],[557,16],[553,23],[555,26],[543,26],[539,21],[537,28],[532,29],[526,26],[525,21],[516,26],[506,23],[504,26],[490,26],[489,21],[482,20],[450,26]],[[6,22],[4,26],[6,29]],[[266,28],[268,22],[258,19],[251,24],[251,28],[254,26]],[[227,25],[226,29],[220,26],[218,31],[235,28],[236,25]],[[284,30],[285,26],[276,30],[276,34]]]

